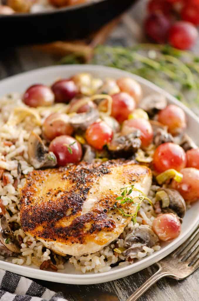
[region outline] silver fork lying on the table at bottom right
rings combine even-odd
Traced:
[[[182,280],[199,267],[199,227],[173,253],[156,263],[158,271],[139,287],[126,301],[136,301],[163,277]]]

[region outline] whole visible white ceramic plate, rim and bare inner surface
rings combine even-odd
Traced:
[[[78,72],[90,72],[93,74],[93,76],[102,79],[106,77],[119,78],[121,76],[130,76],[133,79],[136,79],[142,85],[144,95],[148,95],[154,92],[158,92],[165,95],[170,103],[178,105],[185,111],[188,120],[187,133],[199,145],[199,119],[197,118],[197,116],[194,115],[194,113],[191,112],[191,110],[189,110],[182,103],[177,101],[176,98],[172,97],[170,94],[168,94],[161,88],[158,88],[151,82],[148,82],[147,80],[142,79],[139,76],[115,68],[92,65],[72,65],[53,66],[29,71],[2,80],[0,82],[0,96],[5,95],[9,92],[23,92],[29,85],[32,85],[34,83],[41,82],[44,84],[51,84],[58,78],[67,78]],[[157,262],[163,257],[167,256],[188,238],[188,236],[191,234],[192,231],[194,231],[198,224],[199,201],[187,211],[185,218],[183,219],[182,231],[179,237],[177,237],[169,244],[164,244],[161,250],[153,253],[151,256],[145,257],[144,259],[137,261],[136,263],[133,263],[133,265],[129,265],[127,267],[117,266],[115,268],[112,268],[109,272],[105,273],[80,274],[79,272],[76,272],[74,267],[69,263],[66,264],[66,268],[64,270],[61,270],[59,272],[42,271],[38,268],[34,268],[31,266],[20,266],[5,261],[0,261],[0,268],[31,278],[54,281],[59,283],[96,284],[101,282],[107,282],[138,272],[148,267],[149,265],[152,265],[153,263]]]

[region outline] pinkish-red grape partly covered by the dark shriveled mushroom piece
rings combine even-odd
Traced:
[[[122,135],[130,134],[134,129],[141,131],[142,146],[147,147],[153,140],[153,129],[150,122],[143,118],[129,119],[124,121],[121,129]]]

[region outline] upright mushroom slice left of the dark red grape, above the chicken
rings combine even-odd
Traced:
[[[28,140],[28,156],[30,164],[35,168],[54,167],[57,158],[52,152],[48,152],[41,138],[32,132]]]

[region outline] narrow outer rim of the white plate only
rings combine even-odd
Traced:
[[[35,70],[23,72],[14,76],[10,76],[6,79],[3,79],[0,81],[0,90],[3,88],[4,85],[9,85],[9,82],[13,82],[14,80],[20,80],[23,79],[24,76],[34,76],[37,73],[46,73],[47,71],[55,71],[55,70],[66,70],[70,73],[75,73],[77,70],[79,72],[96,72],[96,70],[106,71],[109,70],[112,73],[115,73],[118,76],[130,76],[135,80],[138,80],[143,85],[146,85],[149,89],[155,90],[154,92],[162,93],[164,94],[169,101],[172,103],[178,105],[181,107],[186,114],[190,116],[191,119],[194,119],[198,125],[199,125],[199,118],[184,104],[179,102],[176,98],[174,98],[172,95],[170,95],[168,92],[163,90],[162,88],[156,86],[155,84],[149,82],[148,80],[137,76],[135,74],[129,73],[124,70],[120,70],[113,67],[105,67],[105,66],[99,66],[99,65],[61,65],[61,66],[49,66],[44,68],[38,68]],[[13,84],[12,84],[13,85]],[[4,94],[2,94],[4,95]],[[182,244],[189,235],[194,231],[194,229],[199,224],[199,216],[194,220],[194,223],[191,224],[191,226],[187,227],[186,230],[183,233],[182,237],[178,237],[175,240],[172,241],[172,245],[168,244],[164,247],[164,249],[161,249],[159,251],[154,252],[152,255],[146,256],[145,258],[141,259],[140,261],[135,262],[133,265],[128,265],[126,267],[121,267],[119,270],[111,269],[108,272],[103,273],[97,273],[97,274],[67,274],[67,273],[57,273],[57,272],[49,272],[44,270],[39,270],[37,268],[33,267],[27,267],[27,266],[21,266],[16,265],[11,262],[5,262],[0,261],[0,268],[6,269],[10,272],[14,272],[23,276],[27,276],[31,278],[37,278],[41,280],[47,280],[52,282],[60,282],[60,283],[66,283],[66,284],[97,284],[97,283],[103,283],[107,281],[116,280],[125,276],[128,276],[130,274],[133,274],[135,272],[141,271],[142,269],[154,264],[155,262],[161,260],[168,254],[170,254],[173,250],[175,250],[180,244]],[[95,275],[95,277],[93,277]]]

